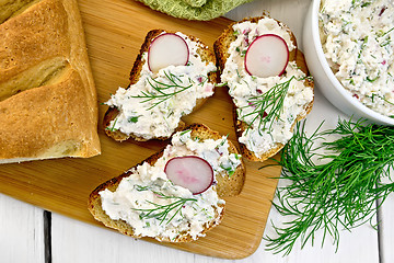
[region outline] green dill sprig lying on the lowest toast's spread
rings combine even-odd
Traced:
[[[138,187],[137,191],[148,191],[149,187]],[[131,208],[132,210],[138,210],[141,211],[141,214],[139,215],[139,218],[142,219],[149,219],[149,218],[155,218],[158,220],[160,220],[160,225],[163,224],[164,221],[166,221],[166,224],[170,224],[172,219],[174,219],[174,217],[181,213],[182,215],[182,207],[184,207],[184,205],[187,202],[197,202],[197,199],[195,198],[183,198],[179,196],[171,196],[171,195],[164,195],[163,193],[160,192],[155,192],[152,191],[155,195],[159,196],[159,198],[162,199],[174,199],[173,203],[170,203],[167,205],[160,205],[160,204],[155,204],[153,202],[147,201],[147,203],[153,205],[153,208]],[[169,217],[169,214],[175,210],[174,215],[172,215],[172,217]]]

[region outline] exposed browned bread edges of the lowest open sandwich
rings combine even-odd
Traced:
[[[192,137],[198,137],[201,140],[222,138],[222,136],[219,133],[210,129],[209,127],[207,127],[202,124],[192,124],[185,128],[185,130],[187,130],[187,129],[192,129]],[[229,140],[229,148],[230,148],[229,151],[231,153],[237,153],[235,146],[230,140]],[[163,156],[163,152],[164,152],[164,149],[150,156],[149,158],[147,158],[146,160],[143,160],[139,164],[136,164],[132,168],[141,165],[144,162],[148,162],[149,164],[153,165],[157,162],[157,160]],[[101,203],[101,196],[100,196],[101,191],[104,191],[106,188],[112,192],[116,191],[120,181],[124,178],[129,176],[130,174],[131,174],[131,172],[130,172],[130,170],[128,170],[125,173],[120,174],[119,176],[111,179],[111,180],[106,181],[105,183],[99,185],[91,193],[91,195],[89,197],[88,208],[91,211],[91,214],[93,215],[93,217],[96,220],[102,221],[105,226],[107,226],[109,228],[114,228],[124,235],[127,235],[127,236],[130,236],[134,238],[141,238],[139,236],[134,235],[132,227],[129,226],[126,221],[111,219],[109,216],[107,216],[106,213],[103,210],[102,203]],[[218,192],[219,197],[239,195],[242,191],[242,187],[243,187],[243,184],[245,181],[245,165],[244,165],[243,161],[236,168],[233,175],[231,175],[231,176],[218,175],[217,181],[218,181],[217,192]],[[217,217],[205,227],[205,229],[201,233],[206,233],[211,228],[219,225],[219,222],[222,220],[223,215],[224,215],[224,205],[222,205],[221,207],[223,208],[221,214],[220,215],[218,214]],[[164,242],[189,242],[189,241],[193,241],[194,239],[192,238],[192,236],[186,233],[186,235],[179,236],[175,240],[163,239],[163,238],[157,238],[157,240],[164,241]]]

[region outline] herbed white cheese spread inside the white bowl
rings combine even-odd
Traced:
[[[394,117],[394,2],[325,0],[320,12],[325,57],[343,87]]]

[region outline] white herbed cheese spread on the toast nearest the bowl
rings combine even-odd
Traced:
[[[313,101],[313,90],[305,87],[306,76],[293,61],[288,64],[286,72],[280,77],[258,78],[250,76],[245,70],[245,53],[257,36],[276,34],[286,41],[289,52],[296,48],[289,32],[281,24],[274,19],[265,18],[258,23],[235,24],[233,30],[236,41],[230,45],[230,56],[224,65],[221,81],[227,82],[229,87],[229,93],[237,107],[237,118],[247,125],[239,141],[260,158],[276,144],[286,144],[291,138],[291,127],[297,116],[306,114],[305,106]],[[271,95],[270,101],[267,99],[268,95],[265,96],[268,92],[277,95]],[[281,103],[280,95],[278,96],[280,93],[283,94]],[[264,96],[269,103],[276,102],[266,108],[262,107]],[[275,108],[278,115],[267,119],[269,112]]]

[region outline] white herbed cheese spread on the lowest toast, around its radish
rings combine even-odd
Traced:
[[[216,182],[201,194],[193,195],[189,190],[174,185],[167,179],[165,163],[182,156],[205,159],[211,164],[215,176],[222,176],[225,172],[231,174],[241,164],[241,156],[229,153],[224,136],[219,140],[201,141],[192,138],[190,130],[176,133],[172,145],[164,149],[154,165],[147,162],[137,165],[115,192],[100,192],[105,213],[114,220],[125,220],[140,237],[174,240],[185,235],[193,239],[204,236],[201,231],[211,221],[219,224],[218,215],[225,202],[218,197]]]

